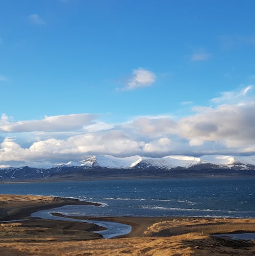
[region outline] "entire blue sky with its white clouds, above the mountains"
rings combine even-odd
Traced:
[[[255,155],[254,9],[0,0],[0,168]]]

